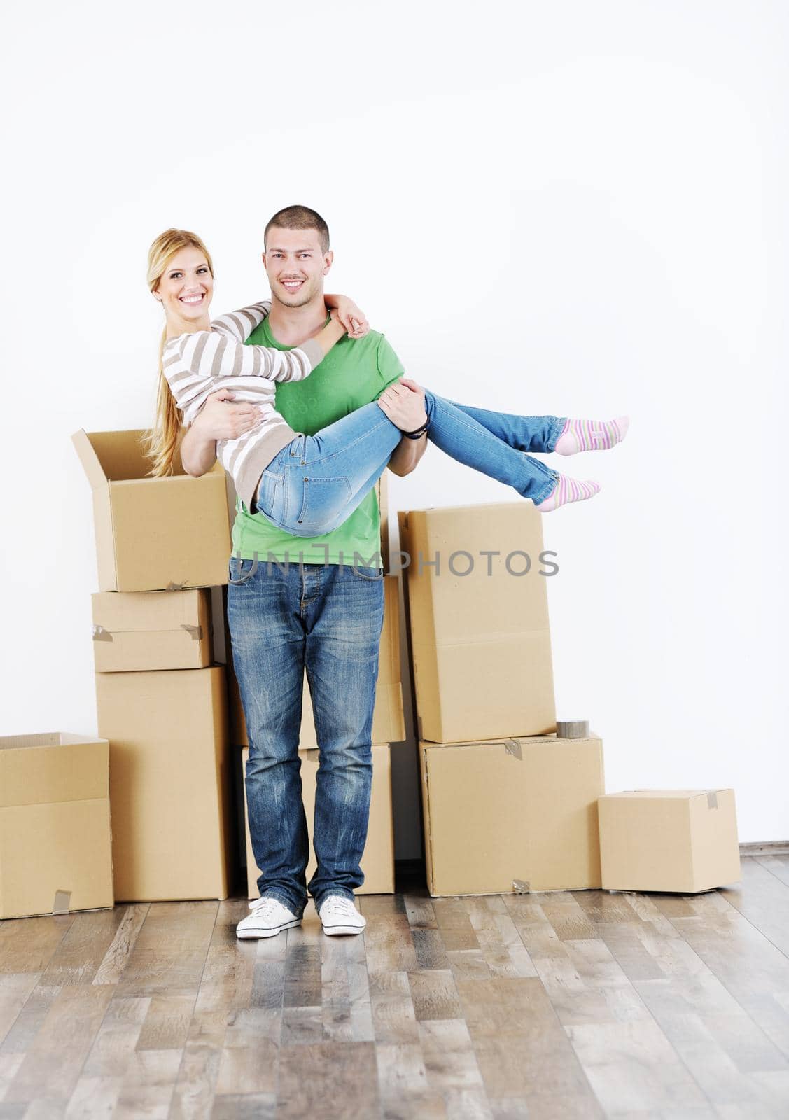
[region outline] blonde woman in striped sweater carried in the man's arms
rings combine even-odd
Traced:
[[[559,475],[523,452],[602,450],[620,442],[628,430],[626,417],[595,422],[470,408],[403,377],[378,401],[306,436],[276,410],[275,382],[307,377],[347,327],[350,337],[361,337],[366,323],[355,305],[344,297],[326,297],[329,321],[290,351],[247,346],[270,302],[212,323],[213,264],[201,239],[187,230],[167,230],[152,243],[148,286],[166,317],[158,422],[148,448],[150,474],[171,470],[182,424],[194,421],[211,393],[231,390],[234,400],[257,405],[260,419],[249,430],[219,440],[217,458],[250,513],[262,514],[294,536],[317,536],[345,521],[374,486],[403,435],[418,438],[427,432],[452,458],[513,486],[547,513],[592,497],[600,486]],[[425,412],[424,424],[405,433],[391,419],[402,392],[424,393]]]

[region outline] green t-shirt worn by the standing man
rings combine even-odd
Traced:
[[[268,319],[256,327],[247,343],[293,349],[277,342]],[[314,436],[349,412],[377,400],[403,372],[399,357],[377,330],[363,338],[346,336],[304,381],[277,382],[275,403],[294,431]],[[354,552],[369,560],[380,547],[380,514],[374,489],[362,498],[342,525],[321,536],[293,536],[277,529],[262,514],[249,513],[241,498],[235,500],[233,556],[242,560],[254,560],[257,556],[260,563],[269,557],[298,563],[301,552],[304,563],[340,563],[343,560],[351,564]]]

